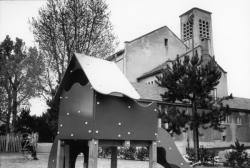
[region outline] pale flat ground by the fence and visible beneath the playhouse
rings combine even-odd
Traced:
[[[21,153],[0,153],[0,168],[47,168],[48,165],[47,153],[38,154],[39,160],[25,159]],[[83,157],[78,156],[76,168],[82,168]],[[148,168],[147,161],[130,161],[118,160],[118,168]],[[98,168],[110,168],[110,159],[98,159]],[[157,168],[163,168],[157,165]],[[210,168],[204,166],[197,166],[196,168]],[[215,168],[215,167],[211,167]],[[222,167],[217,167],[222,168]]]

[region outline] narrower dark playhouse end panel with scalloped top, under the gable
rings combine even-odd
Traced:
[[[90,139],[93,128],[93,90],[75,83],[63,91],[59,106],[60,139]]]

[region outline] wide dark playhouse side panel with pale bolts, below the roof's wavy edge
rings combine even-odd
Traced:
[[[126,97],[97,94],[94,137],[97,139],[155,140],[156,104],[148,107]]]

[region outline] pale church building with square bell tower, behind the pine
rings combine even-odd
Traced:
[[[156,76],[161,74],[166,64],[173,61],[177,55],[192,56],[193,52],[198,53],[203,61],[215,57],[211,12],[192,8],[180,15],[180,24],[180,38],[167,26],[163,26],[136,39],[126,41],[124,49],[106,58],[116,62],[143,99],[157,101],[159,108],[163,110],[167,104],[162,101],[160,94],[165,90],[157,86]],[[219,68],[222,76],[212,93],[214,97],[228,96],[227,72],[222,67],[219,66]],[[227,148],[238,139],[250,146],[248,131],[250,99],[233,98],[228,100],[227,104],[233,113],[223,123],[226,129],[223,132],[211,129],[200,130],[202,133],[200,145],[208,148]],[[180,148],[185,148],[188,139],[192,137],[190,135],[187,133],[175,136],[177,145],[179,143],[182,145]]]

